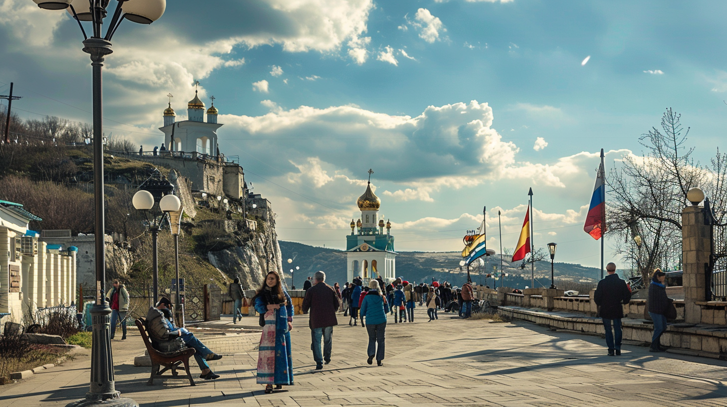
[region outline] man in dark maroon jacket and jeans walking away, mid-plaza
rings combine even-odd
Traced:
[[[336,311],[340,307],[336,290],[329,286],[326,281],[326,273],[316,271],[316,284],[305,291],[303,299],[303,313],[310,310],[308,325],[310,326],[310,337],[313,343],[310,350],[313,350],[313,360],[316,360],[316,370],[323,368],[331,361],[331,350],[333,347],[333,327],[338,325]],[[321,337],[323,337],[323,352],[321,352]]]

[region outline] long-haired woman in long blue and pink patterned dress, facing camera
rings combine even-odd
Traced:
[[[265,384],[265,392],[284,384],[293,384],[293,359],[290,330],[293,328],[293,305],[281,285],[280,275],[271,271],[253,298],[255,310],[265,315],[257,358],[257,382]]]

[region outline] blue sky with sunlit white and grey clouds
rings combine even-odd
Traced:
[[[502,225],[512,250],[532,188],[536,248],[598,267],[583,222],[601,148],[607,172],[643,154],[666,108],[699,161],[722,146],[724,15],[724,1],[169,1],[116,31],[104,130],[161,145],[166,94],[184,120],[200,81],[221,152],[271,201],[281,240],[345,249],[373,169],[398,251],[461,250],[483,206],[489,247]],[[91,121],[82,39],[66,12],[0,0],[0,94],[15,83],[16,113]]]

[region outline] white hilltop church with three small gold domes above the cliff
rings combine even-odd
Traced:
[[[197,86],[199,82],[195,82]],[[172,94],[169,97],[169,107],[164,110],[164,126],[159,129],[164,132],[164,145],[167,150],[181,151],[184,153],[201,153],[209,156],[218,156],[217,129],[222,124],[217,123],[217,108],[214,107],[214,96],[212,106],[207,110],[207,121],[204,121],[204,102],[202,102],[197,90],[194,91],[194,98],[187,104],[187,120],[175,121],[176,113],[172,109]]]

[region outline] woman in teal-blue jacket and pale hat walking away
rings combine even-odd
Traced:
[[[386,313],[388,306],[384,296],[379,290],[379,282],[369,281],[369,292],[361,302],[361,325],[364,325],[366,318],[366,331],[369,333],[369,359],[366,363],[373,363],[376,356],[377,366],[382,366],[384,360],[384,340],[386,331]]]

